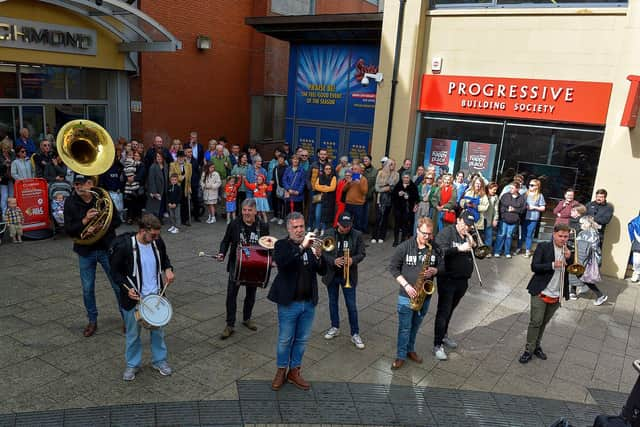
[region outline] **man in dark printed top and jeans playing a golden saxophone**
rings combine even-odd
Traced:
[[[429,310],[434,280],[444,269],[438,245],[432,241],[433,222],[420,218],[416,236],[398,245],[391,258],[389,272],[400,285],[398,290],[398,344],[391,369],[399,369],[407,358],[422,363],[416,353],[416,335]],[[424,299],[422,306],[418,300]]]

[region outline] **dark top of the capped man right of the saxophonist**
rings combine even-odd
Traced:
[[[444,270],[438,271],[442,279],[468,279],[473,274],[473,257],[471,251],[460,252],[458,246],[466,240],[458,234],[456,225],[443,228],[436,236],[436,243],[444,256]]]

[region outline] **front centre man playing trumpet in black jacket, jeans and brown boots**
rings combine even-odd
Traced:
[[[279,390],[288,381],[308,390],[311,386],[302,378],[300,369],[318,305],[316,275],[326,274],[327,265],[321,249],[312,245],[313,234],[305,235],[300,212],[287,216],[287,232],[288,238],[276,242],[273,258],[278,275],[267,297],[278,304],[278,369],[271,388]]]

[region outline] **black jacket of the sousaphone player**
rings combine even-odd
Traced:
[[[109,194],[106,195],[109,197]],[[111,200],[111,198],[109,198]],[[93,196],[89,203],[85,203],[84,200],[78,196],[75,192],[67,199],[64,204],[64,231],[74,239],[79,239],[82,230],[86,227],[82,224],[82,218],[87,214],[89,209],[95,207],[96,197]],[[73,244],[73,251],[76,252],[80,256],[88,256],[93,251],[106,251],[111,246],[111,242],[116,237],[115,229],[122,224],[120,221],[120,215],[118,215],[118,211],[113,204],[113,217],[111,218],[111,224],[107,232],[104,234],[102,239],[98,240],[93,245],[79,245],[77,243]]]

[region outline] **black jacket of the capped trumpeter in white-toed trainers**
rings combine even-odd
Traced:
[[[335,275],[338,277],[342,277],[344,275],[344,269],[342,267],[336,267],[335,261],[336,258],[339,258],[343,254],[343,240],[348,241],[348,247],[350,250],[350,256],[353,260],[351,267],[349,268],[349,283],[351,286],[356,286],[358,284],[358,264],[362,262],[364,257],[366,256],[364,249],[364,239],[362,238],[362,233],[354,228],[351,228],[349,233],[346,235],[340,235],[338,230],[335,228],[331,228],[327,230],[327,234],[324,238],[333,237],[336,241],[336,247],[334,250],[329,252],[323,252],[322,257],[324,258],[327,264],[327,274],[322,276],[322,282],[325,285],[329,285]]]

